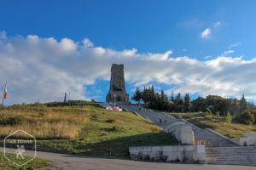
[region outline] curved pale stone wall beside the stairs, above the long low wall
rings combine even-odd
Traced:
[[[180,144],[195,144],[194,132],[191,125],[183,121],[175,121],[169,124],[164,132],[172,133]]]

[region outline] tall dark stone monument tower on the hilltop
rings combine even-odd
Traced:
[[[107,102],[129,102],[129,95],[125,91],[124,65],[111,66],[111,79]]]

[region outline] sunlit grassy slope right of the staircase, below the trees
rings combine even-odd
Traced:
[[[255,125],[225,122],[223,116],[205,115],[204,113],[170,113],[170,115],[176,118],[182,116],[183,119],[198,127],[212,128],[229,138],[239,138],[243,133],[256,132]]]

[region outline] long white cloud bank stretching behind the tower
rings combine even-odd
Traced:
[[[89,98],[84,86],[109,80],[113,63],[125,64],[125,81],[131,84],[161,82],[175,85],[176,92],[256,98],[256,59],[219,56],[201,61],[172,57],[172,51],[138,54],[136,48],[86,47],[68,38],[0,39],[0,82],[8,81],[8,104],[61,100],[67,91],[73,99]]]

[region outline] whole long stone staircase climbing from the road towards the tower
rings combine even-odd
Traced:
[[[144,108],[139,110],[138,107],[132,105],[121,105],[121,107],[127,111],[137,112],[139,116],[143,116],[143,118],[154,122],[154,124],[162,128],[165,128],[168,126],[168,124],[177,121],[177,119],[172,116],[168,116],[164,112],[151,111]],[[162,120],[161,123],[160,119]],[[256,166],[256,146],[238,146],[237,144],[214,131],[209,129],[201,129],[200,127],[196,127],[191,123],[189,124],[192,126],[195,139],[206,141],[207,163]]]

